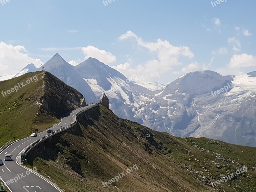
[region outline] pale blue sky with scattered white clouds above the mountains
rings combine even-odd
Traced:
[[[2,0],[0,76],[56,52],[73,65],[94,57],[140,82],[255,71],[256,1],[226,1]]]

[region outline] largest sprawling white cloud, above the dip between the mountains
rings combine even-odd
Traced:
[[[138,46],[144,47],[157,55],[157,59],[148,60],[143,65],[140,64],[132,69],[139,77],[138,81],[140,82],[150,81],[152,77],[160,77],[161,74],[169,72],[172,69],[172,66],[181,65],[179,61],[180,57],[194,57],[194,54],[187,46],[174,46],[168,41],[163,41],[161,39],[157,39],[156,42],[144,42],[141,37],[138,37],[132,31],[127,31],[119,37],[119,40],[125,39],[135,39]],[[130,75],[126,71],[123,73],[125,76]]]

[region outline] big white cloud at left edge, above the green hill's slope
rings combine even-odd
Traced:
[[[39,67],[41,60],[29,57],[27,50],[22,45],[13,46],[0,42],[0,75],[19,73],[22,68],[30,63]]]

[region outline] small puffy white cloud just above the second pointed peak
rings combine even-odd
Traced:
[[[87,47],[83,47],[82,51],[84,53],[84,59],[88,59],[89,57],[95,58],[105,64],[113,63],[116,61],[116,56],[112,55],[110,52],[106,52],[105,50],[100,50],[97,47],[93,47],[92,45],[88,45]]]

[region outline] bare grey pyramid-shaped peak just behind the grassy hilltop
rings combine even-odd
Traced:
[[[76,68],[65,61],[59,53],[56,53],[43,67],[45,71],[50,72],[67,85],[81,92],[86,101],[90,103],[94,101],[95,95],[91,87],[78,74]]]

